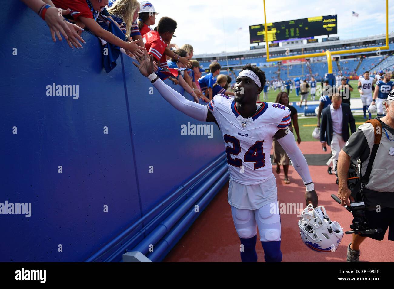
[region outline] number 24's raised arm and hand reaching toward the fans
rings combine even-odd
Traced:
[[[184,114],[195,118],[200,121],[209,121],[207,119],[208,108],[205,105],[195,103],[182,96],[179,92],[166,85],[154,72],[153,72],[153,57],[150,59],[143,55],[135,55],[139,65],[133,62],[138,67],[139,72],[151,81],[153,86],[158,90],[162,97],[167,100],[177,110]]]

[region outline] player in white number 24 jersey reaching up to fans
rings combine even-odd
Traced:
[[[305,184],[305,201],[318,205],[318,196],[305,157],[299,150],[290,124],[290,110],[278,103],[257,105],[265,74],[250,64],[243,66],[234,85],[234,99],[217,94],[208,105],[184,98],[167,86],[154,72],[153,60],[136,55],[139,71],[152,82],[173,107],[199,121],[216,123],[225,142],[230,172],[228,202],[240,237],[243,262],[256,262],[257,228],[267,262],[282,261],[281,220],[277,205],[276,179],[270,150],[275,138],[286,151]]]

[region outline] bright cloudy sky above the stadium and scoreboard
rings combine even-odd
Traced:
[[[327,2],[332,6],[327,7]],[[195,54],[249,50],[249,25],[264,23],[263,0],[151,2],[156,12],[156,24],[163,17],[177,21],[171,43],[191,44]],[[394,31],[394,1],[389,0],[389,32]],[[279,22],[322,15],[338,15],[340,39],[366,37],[385,33],[385,0],[266,0],[267,22]],[[359,17],[352,17],[352,11]],[[391,13],[390,13],[391,12]],[[154,28],[155,25],[151,27]],[[239,30],[239,28],[242,28]],[[316,38],[323,38],[321,36]]]

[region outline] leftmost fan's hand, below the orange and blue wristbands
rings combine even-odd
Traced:
[[[59,10],[62,11],[62,13],[59,13],[60,12]],[[65,39],[68,39],[67,34],[71,33],[71,29],[67,26],[67,24],[65,23],[66,21],[61,16],[63,14],[68,14],[68,13],[70,13],[70,9],[62,10],[56,7],[49,7],[46,10],[45,22],[49,26],[50,33],[52,35],[52,39],[54,42],[56,42],[55,34],[59,40],[62,40],[60,33],[63,34]]]

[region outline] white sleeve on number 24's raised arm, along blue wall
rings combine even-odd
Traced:
[[[153,75],[154,74],[154,75]],[[152,73],[148,76],[149,80],[156,78],[157,75]],[[160,78],[152,83],[162,97],[167,100],[177,110],[184,114],[195,118],[196,120],[206,121],[206,115],[208,114],[208,108],[205,105],[195,103],[182,96],[179,92],[166,85]]]

